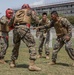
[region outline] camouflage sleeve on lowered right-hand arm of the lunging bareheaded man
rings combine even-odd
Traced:
[[[72,24],[66,18],[63,19],[62,24],[67,28],[67,35],[72,37]]]

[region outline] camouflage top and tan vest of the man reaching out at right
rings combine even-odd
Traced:
[[[49,25],[45,25],[42,28],[51,28],[51,27],[55,28],[57,36],[58,34],[60,35],[65,34],[68,35],[69,37],[72,36],[72,25],[66,18],[59,17],[58,21],[52,20]]]

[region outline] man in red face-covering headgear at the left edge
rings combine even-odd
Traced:
[[[8,26],[8,23],[13,16],[13,10],[8,8],[5,13],[6,15],[2,16],[0,19],[0,63],[2,64],[6,63],[4,57],[9,46],[8,33],[11,28]]]

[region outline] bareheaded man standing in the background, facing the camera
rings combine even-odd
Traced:
[[[42,13],[42,19],[39,21],[38,26],[48,25],[50,20],[47,18],[47,13]],[[43,45],[45,49],[46,59],[49,59],[49,40],[50,40],[50,30],[49,29],[40,29],[37,30],[37,35],[39,35],[39,49],[38,49],[38,58],[42,57]]]

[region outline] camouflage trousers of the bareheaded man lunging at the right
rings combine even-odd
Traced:
[[[53,62],[56,62],[56,59],[57,59],[57,54],[58,52],[60,51],[60,49],[63,47],[63,45],[65,45],[65,50],[66,51],[72,51],[72,54],[74,53],[74,50],[72,48],[72,42],[71,40],[69,41],[66,41],[64,40],[64,38],[58,38],[56,40],[56,43],[54,44],[54,47],[53,47],[53,52],[52,52],[52,61]],[[67,52],[68,53],[68,52]],[[69,55],[69,54],[68,54]],[[74,55],[74,54],[73,54]],[[73,56],[74,57],[74,56]]]

